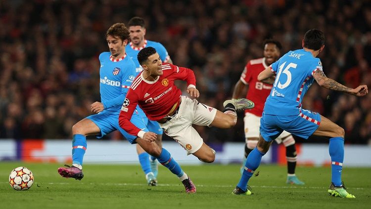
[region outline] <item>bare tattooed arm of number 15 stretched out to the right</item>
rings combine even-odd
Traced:
[[[324,72],[320,69],[315,70],[315,72],[313,73],[313,78],[321,87],[331,90],[341,91],[355,96],[364,96],[369,93],[367,85],[360,85],[357,88],[349,88],[343,84],[337,83],[330,78],[327,78]]]

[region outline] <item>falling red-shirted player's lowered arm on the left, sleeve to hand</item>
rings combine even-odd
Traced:
[[[119,115],[119,125],[122,129],[131,135],[138,136],[145,141],[152,142],[156,140],[156,134],[152,132],[145,132],[139,127],[135,126],[130,119],[133,116],[134,110],[138,105],[138,96],[133,89],[127,93],[127,97],[122,105]]]

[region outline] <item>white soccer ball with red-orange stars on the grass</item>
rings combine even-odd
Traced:
[[[9,175],[9,184],[15,190],[28,190],[34,183],[34,174],[27,167],[16,167]]]

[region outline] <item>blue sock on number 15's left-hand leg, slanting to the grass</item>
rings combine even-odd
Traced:
[[[251,178],[252,174],[256,170],[256,168],[259,167],[260,162],[262,161],[262,157],[265,155],[265,153],[260,152],[256,147],[253,149],[250,154],[247,156],[247,160],[245,163],[245,167],[243,169],[241,178],[239,179],[239,182],[237,186],[242,189],[243,191],[246,191],[247,188],[247,182]]]

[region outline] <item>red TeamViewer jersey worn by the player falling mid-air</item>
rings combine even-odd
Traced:
[[[137,105],[149,120],[158,121],[170,112],[182,95],[182,91],[174,84],[175,80],[196,85],[196,78],[191,69],[164,64],[162,71],[163,74],[155,81],[145,80],[142,71],[130,86],[119,116],[119,125],[129,134],[137,136],[140,131],[130,122]]]

